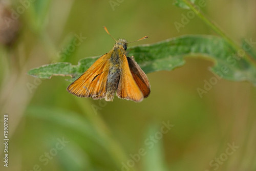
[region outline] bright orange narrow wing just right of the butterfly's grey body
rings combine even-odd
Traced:
[[[125,55],[120,56],[120,79],[116,95],[120,98],[140,102],[144,95],[135,82]]]

